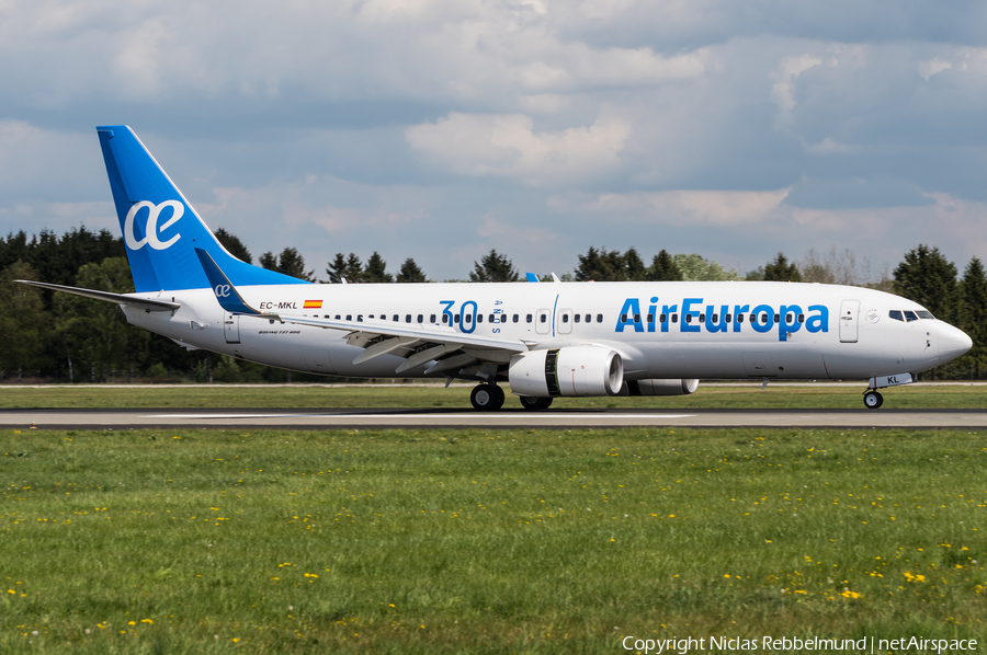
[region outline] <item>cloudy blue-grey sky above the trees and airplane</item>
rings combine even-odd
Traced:
[[[987,3],[0,0],[0,233],[118,233],[126,124],[254,260],[465,278],[987,257]]]

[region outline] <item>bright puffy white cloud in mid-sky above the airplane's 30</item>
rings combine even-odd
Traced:
[[[466,175],[512,177],[530,186],[605,174],[620,164],[631,126],[601,114],[590,126],[535,131],[523,114],[451,112],[405,130],[426,159]]]

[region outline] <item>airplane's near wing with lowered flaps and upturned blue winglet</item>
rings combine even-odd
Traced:
[[[426,375],[457,371],[465,377],[489,379],[496,375],[499,365],[510,363],[511,356],[526,353],[529,349],[529,345],[520,340],[463,334],[440,324],[402,328],[385,319],[340,321],[283,312],[276,314],[261,312],[243,299],[207,252],[200,249],[195,252],[209,278],[213,295],[223,309],[241,317],[344,331],[345,334],[341,337],[345,338],[347,343],[364,348],[353,360],[354,365],[384,355],[395,355],[405,358],[405,363],[397,367],[395,374],[402,374],[433,361],[426,369]]]

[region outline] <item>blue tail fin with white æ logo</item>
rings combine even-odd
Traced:
[[[235,285],[308,284],[229,254],[129,127],[97,131],[138,292],[209,287],[195,249],[209,253]]]

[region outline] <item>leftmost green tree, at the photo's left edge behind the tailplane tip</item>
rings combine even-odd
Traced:
[[[37,272],[15,262],[0,273],[0,371],[15,370],[20,382],[25,370],[35,370],[48,321],[41,290],[15,279],[37,279]]]

